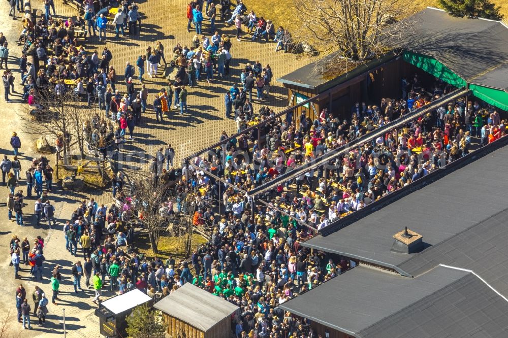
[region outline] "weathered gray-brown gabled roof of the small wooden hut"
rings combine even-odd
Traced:
[[[203,332],[239,309],[229,301],[190,283],[185,283],[153,307]]]

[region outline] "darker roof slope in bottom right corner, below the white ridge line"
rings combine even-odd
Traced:
[[[362,338],[506,337],[508,302],[473,274],[361,330]]]

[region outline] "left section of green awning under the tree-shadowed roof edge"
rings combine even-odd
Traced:
[[[466,81],[460,76],[455,74],[450,68],[442,64],[435,58],[423,54],[413,53],[404,51],[402,55],[404,61],[417,66],[425,72],[432,74],[438,79],[443,80],[455,87],[463,87],[466,85]]]

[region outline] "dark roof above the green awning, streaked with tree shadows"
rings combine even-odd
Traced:
[[[504,90],[487,72],[508,61],[508,28],[499,21],[457,18],[427,8],[406,19],[411,24],[391,43],[405,50],[429,55],[466,81],[485,75],[486,86]],[[474,82],[474,81],[473,81]]]

